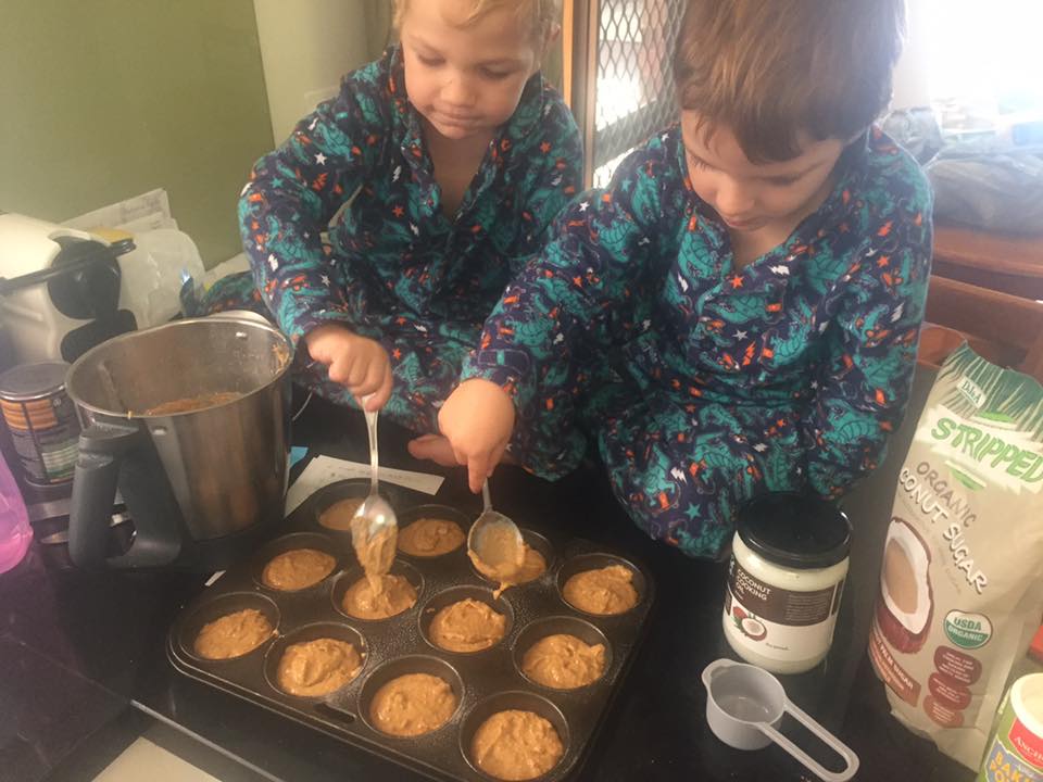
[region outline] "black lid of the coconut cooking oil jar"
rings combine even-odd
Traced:
[[[739,509],[739,539],[776,565],[813,570],[842,562],[851,522],[835,504],[796,492],[771,492]]]

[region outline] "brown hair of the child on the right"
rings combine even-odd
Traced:
[[[846,140],[880,115],[904,29],[905,0],[689,0],[678,101],[751,162],[791,160],[802,134]]]

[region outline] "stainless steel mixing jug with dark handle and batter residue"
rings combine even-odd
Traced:
[[[83,355],[66,380],[84,421],[73,562],[205,571],[251,551],[282,518],[292,355],[278,330],[229,318],[176,320]],[[135,538],[106,556],[117,489]]]

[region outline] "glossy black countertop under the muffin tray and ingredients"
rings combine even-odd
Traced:
[[[862,780],[964,782],[973,773],[914,736],[888,712],[866,655],[883,535],[899,463],[930,377],[919,378],[891,457],[845,501],[855,528],[851,575],[833,648],[809,673],[782,677],[789,696],[860,757]],[[362,417],[313,402],[294,441],[322,453],[366,459]],[[395,467],[430,471],[405,452],[405,433],[381,427],[381,455]],[[806,779],[782,751],[740,753],[705,722],[702,669],[733,656],[720,629],[725,567],[696,563],[646,539],[596,471],[546,483],[500,468],[498,508],[523,525],[560,525],[642,559],[656,580],[648,638],[582,768],[582,780],[788,782]],[[478,509],[461,470],[438,500]],[[186,573],[104,573],[45,567],[36,546],[0,576],[0,780],[48,779],[77,745],[133,704],[234,757],[261,777],[291,780],[419,780],[414,773],[177,673],[164,654],[177,611],[203,588]],[[792,723],[787,723],[792,729]],[[53,778],[53,777],[52,777]]]

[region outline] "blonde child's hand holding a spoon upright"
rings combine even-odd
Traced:
[[[348,388],[359,400],[373,394],[364,405],[377,411],[391,398],[391,361],[388,352],[366,337],[360,337],[343,326],[319,326],[304,337],[307,352],[329,369],[329,379]]]

